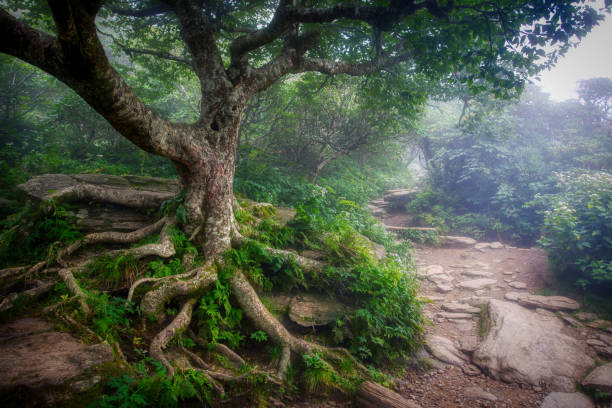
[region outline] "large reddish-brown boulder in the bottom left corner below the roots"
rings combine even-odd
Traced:
[[[72,393],[100,381],[95,368],[113,360],[110,346],[86,345],[51,329],[38,319],[0,327],[0,394],[26,398],[32,405],[62,405]]]

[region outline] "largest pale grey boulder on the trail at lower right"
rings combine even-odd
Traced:
[[[490,330],[472,361],[495,379],[572,391],[594,361],[576,339],[549,320],[517,304],[492,299]]]

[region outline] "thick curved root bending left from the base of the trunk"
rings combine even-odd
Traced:
[[[197,295],[208,289],[217,280],[217,273],[212,265],[199,267],[190,273],[195,274],[193,279],[164,280],[155,289],[147,292],[140,303],[140,309],[144,315],[154,316],[160,320],[163,318],[166,302],[178,296]]]

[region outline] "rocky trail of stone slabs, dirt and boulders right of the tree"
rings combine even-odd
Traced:
[[[392,231],[411,229],[393,205],[413,194],[391,191],[370,209]],[[551,279],[543,251],[440,238],[415,253],[433,323],[417,358],[431,369],[407,370],[396,391],[428,408],[609,406],[576,390],[612,391],[612,323],[537,295]]]

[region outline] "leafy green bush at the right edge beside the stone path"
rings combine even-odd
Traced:
[[[544,236],[553,269],[582,289],[612,288],[612,174],[558,174],[561,192],[548,203]],[[608,292],[609,294],[609,292]]]

